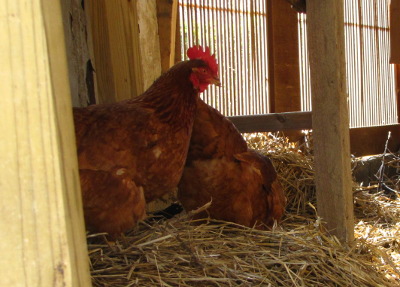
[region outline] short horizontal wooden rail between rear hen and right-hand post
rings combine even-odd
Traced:
[[[312,129],[311,112],[228,117],[242,133]]]

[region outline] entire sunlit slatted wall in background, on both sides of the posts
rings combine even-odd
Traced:
[[[203,97],[227,116],[271,111],[271,75],[266,69],[271,35],[265,34],[270,13],[265,4],[271,2],[275,3],[179,0],[181,52],[184,55],[193,44],[216,49],[224,88],[212,88]],[[350,127],[396,124],[396,80],[388,60],[388,0],[345,0],[344,13]],[[305,14],[299,14],[298,35],[301,110],[310,111]]]

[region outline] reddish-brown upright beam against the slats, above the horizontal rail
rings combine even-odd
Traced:
[[[297,13],[282,0],[268,0],[270,112],[301,110]]]

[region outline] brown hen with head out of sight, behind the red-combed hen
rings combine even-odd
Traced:
[[[178,198],[187,211],[212,201],[211,218],[257,228],[279,221],[286,205],[271,161],[248,150],[232,122],[200,100]]]

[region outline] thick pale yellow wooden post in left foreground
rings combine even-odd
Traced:
[[[60,2],[0,15],[0,286],[91,286]]]

